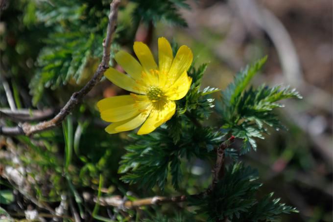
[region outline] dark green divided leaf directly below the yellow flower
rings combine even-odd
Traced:
[[[190,128],[183,132],[177,144],[169,136],[167,129],[158,129],[148,135],[130,134],[134,139],[125,149],[119,173],[126,173],[120,179],[140,187],[151,189],[157,184],[164,189],[168,172],[172,176],[171,183],[175,189],[181,180],[181,159],[193,156],[205,158],[211,148],[219,143],[220,133],[212,133],[212,129]]]

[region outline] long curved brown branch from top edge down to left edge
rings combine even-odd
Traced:
[[[110,4],[110,14],[109,14],[109,24],[107,27],[106,37],[103,41],[103,57],[102,62],[99,64],[93,78],[78,92],[74,92],[71,95],[70,100],[61,109],[61,111],[52,119],[44,122],[40,122],[37,125],[31,125],[25,122],[22,126],[16,127],[1,127],[0,134],[3,135],[31,135],[33,133],[49,130],[53,127],[58,126],[66,116],[76,107],[82,100],[82,98],[87,95],[87,93],[95,87],[95,85],[100,81],[106,69],[109,68],[110,62],[110,46],[112,35],[116,29],[117,15],[118,15],[119,0],[113,0]]]

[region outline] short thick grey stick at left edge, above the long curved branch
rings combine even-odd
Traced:
[[[10,110],[10,109],[0,109],[0,118],[11,119],[15,122],[19,121],[38,121],[44,120],[50,116],[54,115],[53,109],[46,110]]]

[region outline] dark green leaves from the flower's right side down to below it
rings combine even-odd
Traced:
[[[120,162],[119,172],[126,173],[121,180],[130,184],[138,183],[147,189],[157,184],[163,190],[170,172],[173,187],[179,189],[178,184],[182,178],[181,158],[206,158],[220,142],[222,133],[201,127],[199,122],[211,114],[214,99],[209,94],[218,90],[200,90],[206,68],[204,64],[197,69],[190,69],[189,75],[193,79],[190,90],[183,99],[176,101],[176,114],[166,122],[166,128],[149,135],[131,134],[134,141],[125,148],[127,154]]]

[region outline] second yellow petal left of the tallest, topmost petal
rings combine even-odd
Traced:
[[[141,79],[143,68],[131,54],[126,51],[119,51],[115,55],[115,60],[133,79]]]

